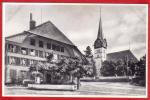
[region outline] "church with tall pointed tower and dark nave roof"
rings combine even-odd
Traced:
[[[106,38],[103,37],[102,20],[100,14],[98,35],[94,42],[94,55],[93,55],[96,69],[96,78],[99,78],[101,76],[100,68],[102,66],[102,62],[106,60],[117,62],[119,60],[124,60],[125,57],[128,57],[128,60],[138,62],[138,59],[134,56],[134,54],[131,52],[130,49],[107,53],[107,40]]]

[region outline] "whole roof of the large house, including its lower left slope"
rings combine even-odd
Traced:
[[[47,21],[41,25],[36,26],[34,29],[6,37],[6,40],[17,43],[22,43],[29,33],[42,36],[48,39],[56,40],[65,44],[74,45],[52,22]]]

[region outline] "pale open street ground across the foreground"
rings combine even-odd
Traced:
[[[146,88],[133,86],[123,82],[81,82],[77,91],[56,91],[56,90],[31,90],[21,86],[5,86],[4,95],[30,95],[30,96],[145,96]]]

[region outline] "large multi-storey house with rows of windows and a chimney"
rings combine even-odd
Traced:
[[[5,83],[22,82],[29,67],[53,53],[54,59],[82,58],[78,48],[50,21],[36,26],[30,14],[29,30],[5,38]]]

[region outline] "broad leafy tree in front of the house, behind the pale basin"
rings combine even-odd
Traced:
[[[85,71],[79,58],[64,58],[57,62],[51,62],[51,59],[52,56],[46,62],[37,62],[30,67],[30,72],[38,72],[43,76],[49,74],[51,76],[49,77],[50,84],[73,84],[75,78],[79,82],[79,79],[83,77]],[[44,79],[44,77],[42,78]]]

